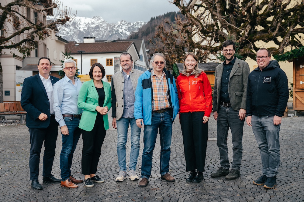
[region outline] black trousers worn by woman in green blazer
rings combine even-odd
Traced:
[[[101,153],[101,146],[105,139],[105,127],[103,119],[96,119],[92,131],[81,129],[82,134],[82,156],[81,156],[81,174],[89,175],[97,172],[97,166]]]

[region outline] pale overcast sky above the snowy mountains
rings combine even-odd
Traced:
[[[179,11],[177,6],[168,0],[60,0],[61,5],[70,7],[79,17],[100,16],[112,23],[125,20],[127,22],[148,22],[151,17],[163,15],[171,11]],[[172,0],[173,1],[173,0]]]

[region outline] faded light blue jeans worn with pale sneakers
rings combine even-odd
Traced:
[[[126,143],[128,139],[129,124],[131,127],[131,151],[129,171],[136,169],[139,154],[139,140],[141,128],[137,127],[135,118],[120,118],[117,124],[117,156],[119,171],[126,171]]]

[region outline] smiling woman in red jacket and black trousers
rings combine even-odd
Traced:
[[[186,170],[190,171],[186,182],[197,183],[204,179],[212,89],[193,53],[184,56],[184,70],[177,77],[177,89]]]

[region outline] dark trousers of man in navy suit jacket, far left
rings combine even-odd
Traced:
[[[29,128],[31,149],[29,153],[30,180],[38,180],[39,161],[42,144],[44,141],[42,176],[52,177],[51,171],[55,156],[56,141],[58,136],[58,123],[54,115],[50,117],[47,128]]]

